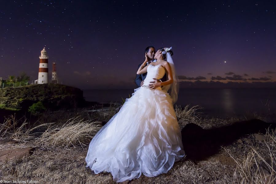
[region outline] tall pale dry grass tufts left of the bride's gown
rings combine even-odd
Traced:
[[[93,120],[93,119],[92,119]],[[70,118],[62,126],[56,123],[43,123],[33,128],[27,128],[29,124],[25,119],[19,127],[19,120],[13,115],[0,124],[1,139],[14,139],[21,144],[29,143],[39,147],[69,148],[75,145],[85,146],[101,128],[100,122],[83,121],[80,116]],[[37,132],[41,130],[42,132]]]

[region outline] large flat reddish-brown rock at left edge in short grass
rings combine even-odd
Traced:
[[[34,148],[14,148],[9,150],[0,151],[0,161],[21,159],[24,156],[30,156],[33,153]]]

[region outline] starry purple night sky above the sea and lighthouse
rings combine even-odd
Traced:
[[[173,47],[182,80],[273,82],[275,33],[276,1],[2,0],[0,77],[36,80],[45,47],[63,84],[132,89],[153,45]]]

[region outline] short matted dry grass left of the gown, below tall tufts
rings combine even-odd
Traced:
[[[37,180],[39,183],[116,183],[111,174],[95,175],[85,167],[81,147],[68,151],[62,148],[37,149],[23,159],[0,162],[2,180]]]

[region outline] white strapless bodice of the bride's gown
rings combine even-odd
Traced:
[[[144,80],[143,86],[148,86],[151,81],[154,81],[153,78],[162,79],[165,74],[166,74],[165,68],[161,64],[158,64],[155,66],[154,65],[148,66],[147,76],[146,76],[146,79]]]

